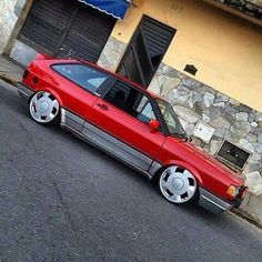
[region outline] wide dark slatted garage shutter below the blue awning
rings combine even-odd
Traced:
[[[34,0],[19,40],[39,52],[97,62],[115,21],[75,0]]]

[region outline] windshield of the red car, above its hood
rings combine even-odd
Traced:
[[[179,118],[174,113],[173,108],[167,101],[157,99],[158,105],[160,108],[161,114],[163,115],[164,122],[168,127],[169,133],[173,137],[185,138],[185,131],[179,121]]]

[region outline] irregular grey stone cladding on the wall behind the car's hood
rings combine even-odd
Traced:
[[[252,193],[262,194],[262,113],[163,63],[149,90],[172,103],[189,134],[199,121],[215,129],[209,143],[193,138],[199,147],[214,154],[226,139],[251,152],[244,169],[246,184]]]

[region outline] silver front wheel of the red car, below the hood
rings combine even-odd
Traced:
[[[187,169],[173,165],[163,171],[159,187],[165,199],[180,204],[192,200],[196,193],[196,181]]]

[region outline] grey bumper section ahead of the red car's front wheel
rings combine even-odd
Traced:
[[[213,213],[225,212],[232,209],[233,206],[233,204],[228,203],[226,201],[215,196],[203,188],[200,188],[199,205]]]

